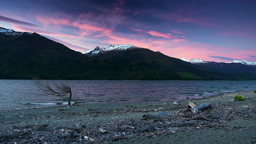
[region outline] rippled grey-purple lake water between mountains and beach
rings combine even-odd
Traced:
[[[42,80],[44,81],[44,80]],[[256,90],[256,81],[49,80],[68,84],[78,104],[168,102]],[[33,80],[0,80],[0,110],[66,105],[68,96],[38,96]],[[39,93],[37,93],[39,94]]]

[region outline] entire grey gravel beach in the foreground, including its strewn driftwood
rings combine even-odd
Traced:
[[[242,95],[245,100],[234,101],[234,95]],[[188,101],[197,106],[211,103],[212,107],[194,114]],[[1,110],[0,143],[14,142],[251,144],[256,143],[256,94],[232,92],[178,104],[88,104]]]

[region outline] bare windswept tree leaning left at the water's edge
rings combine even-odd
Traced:
[[[66,96],[67,94],[69,94],[68,106],[70,106],[72,92],[71,92],[71,88],[68,85],[62,84],[62,83],[58,84],[55,82],[50,84],[48,81],[42,82],[41,80],[38,80],[38,79],[34,79],[34,85],[39,88],[37,91],[40,93],[35,95]]]

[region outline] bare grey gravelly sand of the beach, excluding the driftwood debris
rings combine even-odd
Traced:
[[[244,101],[231,101],[232,96],[239,94],[245,97]],[[177,114],[182,114],[181,111],[186,108],[188,101],[193,103],[204,104],[211,103],[212,108],[202,110],[203,112],[208,112],[208,114],[193,114],[193,117],[204,117],[210,118],[211,121],[199,120],[203,122],[201,125],[184,125],[180,126],[177,130],[166,130],[167,127],[163,127],[164,130],[158,130],[152,128],[148,131],[141,132],[140,136],[129,137],[121,136],[120,132],[109,132],[109,134],[103,134],[110,136],[116,134],[118,140],[112,141],[113,138],[106,138],[102,140],[97,140],[89,134],[89,130],[96,130],[98,132],[99,128],[110,128],[104,127],[104,125],[110,123],[112,125],[120,125],[120,121],[132,122],[138,124],[149,124],[158,123],[165,124],[166,120],[141,120],[144,114],[157,115],[161,112],[169,112],[170,115],[177,116]],[[34,108],[34,109],[24,109],[24,110],[2,110],[0,111],[0,143],[10,143],[10,142],[36,142],[36,143],[53,143],[47,136],[42,136],[42,133],[63,134],[77,132],[83,140],[78,141],[77,137],[72,137],[73,140],[68,141],[68,138],[58,136],[58,141],[55,142],[66,142],[66,143],[90,143],[85,140],[86,136],[85,130],[88,131],[88,136],[94,139],[93,143],[109,143],[109,144],[246,144],[246,143],[256,143],[256,94],[252,91],[250,92],[232,92],[227,94],[220,94],[218,96],[213,96],[210,98],[203,98],[199,100],[191,100],[178,102],[179,105],[174,104],[174,102],[162,102],[162,103],[137,103],[137,104],[88,104],[81,106],[62,106],[62,107],[51,107],[51,108]],[[227,112],[224,117],[225,122],[223,124],[220,122],[219,117],[214,118],[214,114],[218,114],[217,108],[224,108]],[[236,111],[237,110],[237,111]],[[244,112],[242,112],[244,111]],[[233,113],[231,113],[233,112]],[[235,113],[234,113],[235,112]],[[171,116],[170,116],[171,117]],[[192,117],[191,117],[192,118]],[[184,121],[185,117],[182,117],[180,121]],[[171,122],[170,118],[168,119]],[[174,120],[174,119],[173,119]],[[177,120],[177,119],[175,119]],[[119,122],[119,123],[115,123]],[[206,123],[209,123],[207,127]],[[214,124],[218,122],[218,124]],[[36,126],[42,126],[47,124],[45,128],[38,128],[36,132],[41,134],[38,138],[35,135],[29,140],[23,140],[22,136],[25,136],[26,132],[31,132],[33,134],[34,128]],[[210,126],[211,125],[211,126]],[[32,128],[31,126],[34,126]],[[102,126],[102,127],[101,127]],[[106,125],[107,126],[107,125]],[[127,124],[125,125],[127,126]],[[134,127],[134,132],[138,131],[140,126]],[[80,129],[79,131],[77,129]],[[161,128],[158,126],[158,129]],[[66,131],[65,131],[66,130]],[[72,131],[73,130],[73,131]],[[113,129],[114,130],[114,129]],[[129,131],[129,128],[127,128]],[[20,137],[14,135],[14,132],[18,132]],[[54,132],[53,132],[54,131]],[[65,132],[64,132],[65,131]],[[125,131],[127,134],[128,131]],[[11,133],[12,132],[12,133]],[[23,133],[22,133],[23,132]],[[166,134],[167,132],[167,134]],[[111,133],[111,134],[110,134]],[[14,136],[10,136],[10,134]],[[30,134],[30,135],[31,135]],[[16,137],[15,137],[16,136]],[[78,137],[80,137],[78,136]],[[40,139],[41,138],[41,139]],[[44,139],[45,138],[45,139]],[[66,141],[65,141],[65,140]],[[71,137],[69,138],[71,139]],[[2,140],[2,141],[1,141]]]

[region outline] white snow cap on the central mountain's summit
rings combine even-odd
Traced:
[[[90,56],[95,56],[99,52],[106,52],[106,51],[112,51],[112,50],[127,50],[130,48],[138,48],[136,46],[130,45],[130,44],[113,44],[110,46],[105,46],[104,48],[100,48],[96,46],[94,49],[90,49],[87,51],[84,51],[83,54],[89,54]]]

